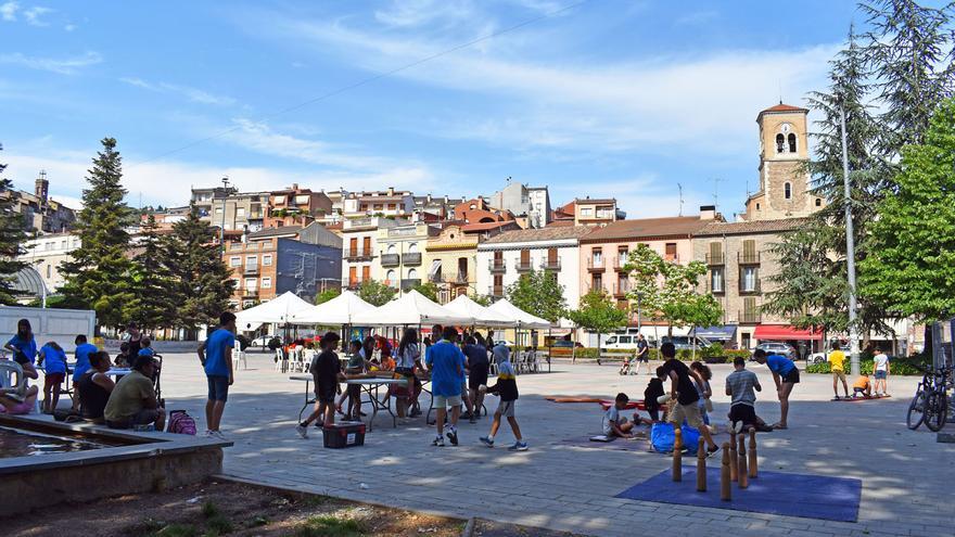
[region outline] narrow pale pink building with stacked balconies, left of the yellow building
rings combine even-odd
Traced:
[[[383,280],[381,264],[378,258],[379,229],[393,228],[408,223],[396,220],[369,216],[347,218],[342,222],[342,284],[348,289],[357,289],[362,281]]]

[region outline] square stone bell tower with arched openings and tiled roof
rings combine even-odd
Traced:
[[[825,205],[810,192],[807,114],[780,102],[756,116],[760,190],[747,200],[747,220],[802,217]]]

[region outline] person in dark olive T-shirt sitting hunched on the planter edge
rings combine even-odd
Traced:
[[[110,400],[103,409],[106,426],[130,429],[154,424],[156,431],[163,430],[166,411],[156,400],[155,374],[156,360],[152,356],[136,357],[132,372],[120,379],[110,393]]]

